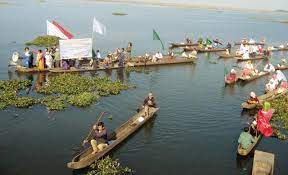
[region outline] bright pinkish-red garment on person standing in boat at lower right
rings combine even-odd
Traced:
[[[270,137],[273,134],[273,129],[269,123],[273,115],[273,110],[269,109],[268,112],[259,110],[257,119],[257,130],[260,131],[265,137]]]

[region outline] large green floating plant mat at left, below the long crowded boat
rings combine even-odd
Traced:
[[[19,92],[32,85],[29,80],[0,81],[0,109],[8,106],[27,108],[35,104],[45,105],[49,110],[63,110],[67,104],[86,107],[100,96],[117,95],[132,86],[112,81],[108,77],[84,77],[78,74],[60,74],[49,77],[48,82],[36,89],[38,96],[21,96]]]

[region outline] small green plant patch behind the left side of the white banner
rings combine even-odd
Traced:
[[[38,47],[50,47],[50,46],[57,46],[59,45],[59,37],[57,36],[38,36],[32,41],[26,42],[26,45],[34,45]]]

